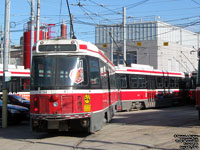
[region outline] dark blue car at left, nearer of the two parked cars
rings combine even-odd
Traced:
[[[0,100],[0,119],[2,118],[3,102]],[[7,104],[8,123],[20,123],[29,118],[29,109],[23,106]]]

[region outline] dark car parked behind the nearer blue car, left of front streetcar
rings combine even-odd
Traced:
[[[2,95],[1,95],[1,99],[3,99]],[[18,95],[9,94],[7,103],[13,104],[13,105],[24,106],[28,109],[30,108],[30,101],[21,96],[18,96]]]

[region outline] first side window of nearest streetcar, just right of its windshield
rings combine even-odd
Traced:
[[[90,84],[92,87],[100,87],[100,70],[99,60],[96,58],[89,59]]]

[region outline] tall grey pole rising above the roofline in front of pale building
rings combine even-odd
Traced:
[[[124,62],[126,62],[126,7],[123,7],[123,51]]]

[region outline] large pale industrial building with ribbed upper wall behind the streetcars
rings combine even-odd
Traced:
[[[151,65],[167,71],[197,69],[198,33],[161,21],[128,23],[126,31],[127,64]],[[113,45],[113,63],[123,64],[122,24],[97,25],[95,35],[95,44],[109,58]]]

